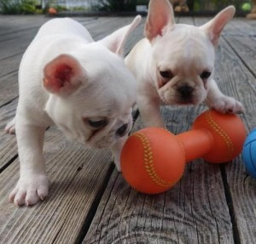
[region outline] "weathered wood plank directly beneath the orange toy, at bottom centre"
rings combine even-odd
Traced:
[[[193,24],[193,19],[179,23]],[[162,114],[167,128],[181,133],[204,110],[203,105],[169,106]],[[139,117],[134,130],[142,127]],[[114,172],[84,243],[234,243],[220,168],[190,162],[183,179],[156,196],[137,193]]]

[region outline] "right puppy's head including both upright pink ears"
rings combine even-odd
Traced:
[[[166,104],[199,104],[207,97],[214,47],[235,14],[230,6],[204,26],[174,23],[167,0],[151,0],[144,34],[152,45],[155,85]]]

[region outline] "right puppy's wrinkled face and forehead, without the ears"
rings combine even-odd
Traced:
[[[152,46],[162,102],[196,105],[206,99],[215,56],[205,32],[195,26],[175,25],[163,37],[156,37]]]

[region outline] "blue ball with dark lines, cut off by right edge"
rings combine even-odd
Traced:
[[[242,150],[242,158],[247,171],[256,178],[256,128],[247,136]]]

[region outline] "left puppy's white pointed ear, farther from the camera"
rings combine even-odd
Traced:
[[[131,31],[133,31],[141,22],[142,17],[137,15],[135,19],[132,21],[131,25],[124,26],[117,31],[114,31],[108,37],[103,38],[100,43],[106,46],[110,51],[120,56],[123,55],[125,41]]]

